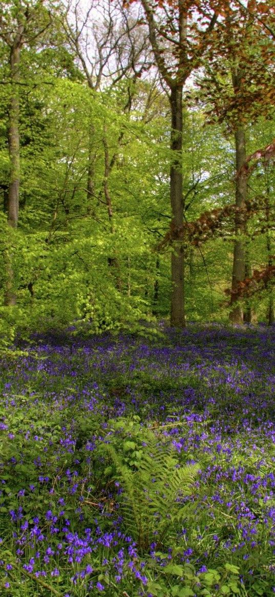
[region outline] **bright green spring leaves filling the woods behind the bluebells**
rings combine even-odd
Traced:
[[[18,11],[25,23],[20,6],[20,2],[5,3],[7,23],[16,21]],[[26,330],[37,328],[76,325],[84,330],[88,323],[91,332],[97,333],[137,330],[141,320],[168,317],[171,297],[170,251],[159,255],[155,250],[171,220],[168,100],[150,75],[132,81],[106,79],[108,84],[91,91],[64,38],[60,7],[51,6],[51,24],[45,6],[39,15],[35,3],[31,8],[33,23],[37,20],[34,28],[49,27],[41,38],[32,39],[36,29],[32,31],[29,23],[21,48],[20,206],[18,235],[12,256],[9,253],[17,309],[8,313],[1,307],[1,342],[6,347],[17,332],[25,335]],[[10,172],[11,94],[4,41],[0,56],[4,82],[0,86],[0,204],[4,208],[1,185],[7,189]],[[191,107],[184,107],[183,113],[187,221],[234,201],[233,137],[228,131],[225,134],[224,125],[204,126],[203,106],[194,107],[194,93],[190,91]],[[248,152],[270,141],[271,125],[263,116],[249,128]],[[252,269],[267,263],[274,253],[273,186],[271,164],[252,174],[251,199],[261,198],[259,212],[248,222],[246,250]],[[262,207],[267,198],[269,217]],[[5,247],[10,246],[3,228],[5,217],[2,214],[0,224],[1,304],[7,281]],[[224,291],[230,287],[232,225],[224,223],[223,238],[213,238],[199,248],[186,246],[189,321],[228,318]],[[260,321],[266,319],[270,301],[271,288],[250,299]]]

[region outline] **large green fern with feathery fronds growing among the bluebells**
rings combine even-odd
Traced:
[[[152,432],[146,440],[135,470],[123,463],[112,444],[101,448],[115,466],[115,476],[123,487],[123,521],[141,550],[152,541],[159,549],[175,524],[186,518],[188,506],[181,503],[181,497],[190,495],[199,470],[198,464],[179,466],[171,445],[165,445]]]

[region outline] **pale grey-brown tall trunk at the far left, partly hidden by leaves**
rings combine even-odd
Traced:
[[[11,100],[8,118],[8,152],[10,156],[10,181],[8,186],[8,224],[17,228],[20,184],[20,144],[19,144],[19,62],[21,42],[15,41],[10,49]],[[14,269],[11,250],[6,259],[7,283],[4,304],[16,304]]]

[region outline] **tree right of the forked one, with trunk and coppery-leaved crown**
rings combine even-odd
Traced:
[[[270,99],[274,94],[273,69],[270,66],[273,44],[262,19],[266,7],[258,13],[254,1],[244,7],[237,3],[237,10],[231,10],[233,3],[225,3],[225,20],[221,24],[217,47],[208,54],[205,78],[199,84],[204,90],[206,101],[212,104],[208,112],[210,120],[225,122],[227,131],[234,134],[236,176],[233,269],[231,281],[230,321],[242,324],[251,321],[251,309],[238,300],[236,289],[249,276],[250,264],[246,250],[246,221],[242,215],[245,208],[248,187],[243,166],[246,162],[246,130],[259,115],[270,114]],[[214,112],[214,115],[213,115]]]

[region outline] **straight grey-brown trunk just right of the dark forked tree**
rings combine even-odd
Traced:
[[[235,149],[236,149],[236,192],[235,192],[235,205],[236,208],[245,208],[246,193],[247,193],[247,182],[245,174],[238,174],[240,168],[246,159],[245,150],[245,131],[242,127],[236,129],[235,134]],[[233,257],[233,271],[232,271],[232,284],[231,284],[231,312],[229,315],[230,321],[233,324],[243,324],[243,309],[240,304],[235,304],[237,300],[236,290],[239,282],[245,279],[245,217],[244,213],[236,211],[235,216],[235,236],[234,241],[234,257]]]

